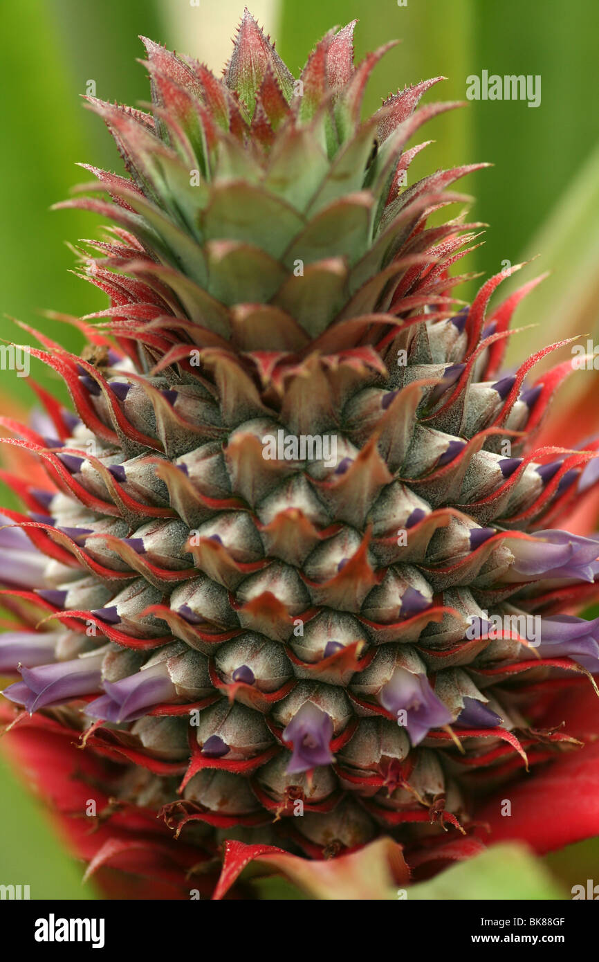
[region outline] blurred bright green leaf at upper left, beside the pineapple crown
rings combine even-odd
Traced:
[[[2,31],[0,315],[40,327],[78,353],[80,333],[40,320],[38,312],[84,315],[106,306],[105,295],[69,274],[73,255],[62,242],[97,237],[98,221],[79,212],[54,214],[50,206],[80,180],[78,161],[123,172],[106,127],[83,109],[80,95],[90,92],[93,81],[97,95],[107,100],[147,98],[147,76],[136,62],[143,52],[137,35],[160,34],[156,2],[106,0],[100,9],[79,0],[23,0],[5,6]],[[0,333],[14,337],[7,320]],[[66,398],[60,379],[45,367],[36,364],[32,373]],[[26,379],[12,376],[5,382],[12,395],[32,402]]]

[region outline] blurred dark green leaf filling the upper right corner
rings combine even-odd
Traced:
[[[569,193],[592,154],[597,121],[592,109],[589,112],[587,92],[595,88],[597,69],[588,38],[596,32],[596,3],[577,0],[567,15],[562,0],[544,0],[542,13],[538,4],[520,0],[501,4],[473,0],[471,9],[473,43],[461,66],[462,85],[470,74],[480,77],[484,67],[489,74],[541,78],[537,108],[529,108],[525,100],[479,100],[467,108],[475,136],[468,160],[495,165],[475,175],[472,186],[478,197],[476,215],[490,225],[479,264],[494,274],[504,259],[512,264],[520,260],[523,249],[544,254],[544,248],[531,247],[530,238],[556,201]],[[587,199],[587,214],[593,214],[592,196]],[[581,235],[578,250],[583,242]],[[539,259],[540,269],[549,263]],[[544,327],[540,311],[536,319]],[[539,337],[544,344],[551,335],[543,330]],[[527,354],[523,347],[519,356]]]

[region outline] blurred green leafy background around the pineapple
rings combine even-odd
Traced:
[[[357,54],[400,38],[374,71],[365,108],[428,76],[448,80],[435,98],[464,99],[470,74],[540,75],[541,103],[473,101],[433,121],[436,143],[414,162],[411,182],[438,166],[490,161],[464,180],[477,196],[472,215],[487,221],[486,244],[466,269],[497,273],[502,262],[540,254],[523,279],[550,268],[552,276],[523,306],[518,321],[537,329],[513,339],[512,363],[534,347],[568,334],[596,331],[599,307],[599,117],[596,0],[257,0],[251,6],[293,73],[316,39],[358,17]],[[137,35],[190,53],[219,70],[230,51],[243,4],[237,0],[20,0],[2,12],[0,77],[0,336],[21,342],[10,317],[37,326],[76,350],[70,327],[40,316],[45,309],[83,315],[105,306],[90,285],[69,273],[73,256],[62,243],[99,236],[83,213],[50,213],[86,177],[75,162],[120,172],[101,121],[82,107],[89,82],[98,97],[135,104],[149,97]],[[429,94],[428,100],[434,99]],[[522,276],[522,275],[520,275]],[[511,283],[511,282],[510,282]],[[462,296],[469,291],[458,291]],[[34,376],[62,391],[45,369]],[[8,381],[11,377],[11,381]],[[32,403],[12,374],[0,393]],[[549,856],[552,871],[571,885],[597,874],[594,840]],[[0,883],[30,883],[32,897],[82,898],[81,869],[63,853],[4,763],[0,764]],[[87,887],[87,897],[92,890]],[[502,898],[501,895],[498,896]],[[505,898],[505,895],[503,896]]]

